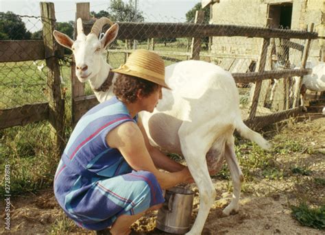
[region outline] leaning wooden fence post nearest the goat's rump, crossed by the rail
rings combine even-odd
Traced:
[[[269,38],[263,38],[260,60],[258,62],[258,72],[263,72],[265,69],[268,46],[269,46]],[[259,98],[259,95],[261,92],[262,82],[263,82],[263,80],[256,82],[252,106],[250,107],[250,118],[249,119],[254,119],[254,116],[256,114],[256,108],[258,105],[258,98]]]

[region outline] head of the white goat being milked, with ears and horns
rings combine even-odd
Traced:
[[[99,40],[101,28],[112,25]],[[106,48],[115,40],[119,31],[119,25],[113,24],[109,18],[102,17],[95,21],[91,32],[86,36],[82,27],[82,19],[77,19],[77,40],[73,41],[66,34],[54,30],[53,36],[63,47],[73,51],[75,56],[75,72],[80,82],[86,82],[94,77],[101,69],[101,60],[106,54]],[[106,60],[106,58],[104,59]]]

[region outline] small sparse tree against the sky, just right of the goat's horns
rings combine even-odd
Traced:
[[[143,12],[134,8],[131,3],[122,0],[110,1],[110,18],[112,21],[143,22]]]

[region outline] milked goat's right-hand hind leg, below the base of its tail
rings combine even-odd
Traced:
[[[230,140],[226,143],[225,158],[230,171],[233,187],[232,200],[223,210],[224,214],[229,215],[238,212],[239,197],[241,196],[241,183],[243,182],[243,173],[241,173],[236,153],[234,152],[234,136],[231,136]]]

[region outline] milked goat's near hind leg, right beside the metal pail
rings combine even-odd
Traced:
[[[215,188],[206,166],[206,150],[199,133],[191,132],[186,136],[180,134],[180,145],[189,171],[200,192],[200,208],[191,231],[187,234],[201,234],[206,218],[215,201]]]

